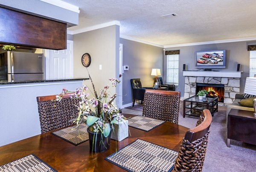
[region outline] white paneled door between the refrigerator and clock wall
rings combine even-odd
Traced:
[[[73,77],[73,41],[67,40],[67,49],[49,50],[49,78]]]

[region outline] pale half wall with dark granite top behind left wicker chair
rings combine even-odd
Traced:
[[[0,83],[0,146],[41,133],[36,97],[90,84],[88,78]]]

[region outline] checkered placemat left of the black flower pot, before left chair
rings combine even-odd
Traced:
[[[89,140],[87,127],[88,126],[85,123],[81,123],[79,126],[69,126],[51,133],[74,145],[79,145],[80,143]]]

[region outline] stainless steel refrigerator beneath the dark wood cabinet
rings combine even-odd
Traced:
[[[0,82],[44,79],[44,54],[4,52],[0,54]]]

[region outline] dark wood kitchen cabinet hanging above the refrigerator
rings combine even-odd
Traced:
[[[67,24],[0,7],[0,43],[67,49]]]

